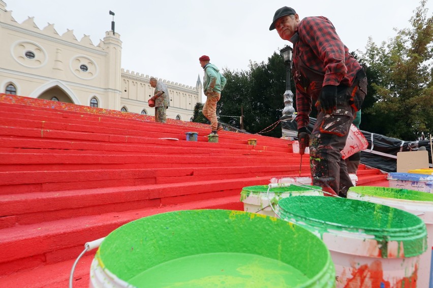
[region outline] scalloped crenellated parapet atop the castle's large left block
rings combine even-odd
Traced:
[[[67,29],[63,34],[59,34],[55,28],[54,24],[47,23],[44,28],[39,28],[36,25],[34,17],[28,17],[22,23],[18,23],[14,17],[12,16],[12,11],[6,10],[6,5],[3,1],[0,0],[0,26],[7,27],[12,30],[17,30],[23,33],[32,33],[38,34],[42,38],[48,38],[50,40],[55,41],[65,41],[70,44],[82,46],[83,48],[91,48],[103,51],[103,46],[101,42],[95,46],[90,40],[89,35],[83,35],[83,37],[78,40],[75,37],[74,30]],[[111,35],[112,37],[119,38],[119,34],[114,33]]]

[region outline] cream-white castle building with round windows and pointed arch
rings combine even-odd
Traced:
[[[19,24],[0,0],[0,39],[0,93],[154,115],[150,77],[121,68],[118,33],[105,32],[95,46],[73,30],[58,34],[54,24],[40,29],[33,17]],[[202,97],[200,79],[195,87],[159,81],[169,91],[167,117],[190,121]]]

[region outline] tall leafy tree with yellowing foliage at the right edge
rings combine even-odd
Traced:
[[[369,39],[362,60],[375,103],[363,109],[363,129],[405,140],[433,132],[433,17],[426,3],[414,11],[411,28],[397,30],[389,43]]]

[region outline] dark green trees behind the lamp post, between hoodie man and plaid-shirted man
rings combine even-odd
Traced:
[[[280,54],[274,52],[267,63],[250,62],[247,71],[225,69],[224,76],[227,84],[217,106],[222,122],[240,127],[241,107],[244,129],[250,133],[260,132],[280,119],[286,81],[286,68]],[[281,137],[281,125],[263,135]]]

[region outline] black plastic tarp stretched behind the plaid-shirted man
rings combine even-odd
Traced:
[[[316,118],[310,118],[310,124],[308,124],[307,127],[307,130],[309,132],[313,131],[313,126],[315,123]],[[291,130],[294,132],[296,132],[298,129],[296,121],[282,122],[282,127],[283,129]],[[381,169],[385,172],[396,172],[397,159],[391,158],[386,155],[378,155],[375,154],[375,152],[397,156],[398,152],[417,151],[420,147],[425,147],[425,149],[428,151],[428,161],[429,163],[432,163],[430,142],[427,140],[403,141],[397,138],[387,137],[381,134],[370,133],[363,130],[361,130],[361,132],[364,134],[365,138],[368,141],[368,148],[365,151],[361,151],[362,164]],[[372,143],[373,152],[371,152]]]

